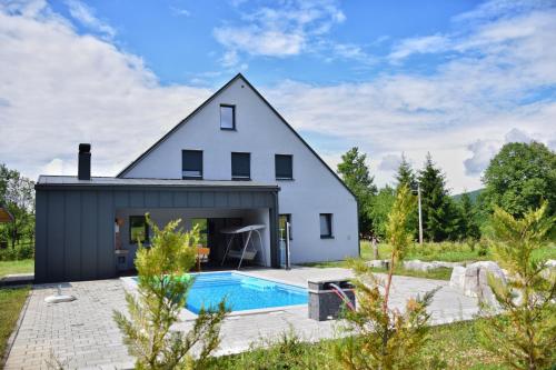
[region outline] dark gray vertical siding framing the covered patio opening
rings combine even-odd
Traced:
[[[191,189],[38,189],[37,282],[116,276],[113,221],[118,208],[268,208],[271,263],[277,267],[277,193]]]

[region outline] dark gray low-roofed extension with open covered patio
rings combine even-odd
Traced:
[[[207,240],[217,257],[222,249],[219,227],[262,223],[261,249],[269,259],[261,264],[280,266],[275,184],[41,176],[36,191],[36,282],[113,278],[122,267],[131,268],[137,249],[131,237],[145,212],[160,227],[178,218],[185,229],[207,220]],[[146,228],[146,240],[148,234]]]

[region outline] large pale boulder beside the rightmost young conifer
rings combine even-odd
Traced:
[[[461,289],[465,296],[477,297],[486,304],[496,307],[496,298],[488,284],[489,274],[506,284],[504,271],[496,262],[480,261],[468,264],[466,268],[454,268],[450,286]]]

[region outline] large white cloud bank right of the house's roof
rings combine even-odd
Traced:
[[[404,151],[419,164],[430,151],[455,191],[476,189],[480,171],[507,138],[522,132],[556,140],[556,101],[529,99],[556,87],[555,18],[549,8],[476,24],[449,43],[461,54],[429,74],[386,72],[328,87],[286,81],[267,93],[307,134],[337,137],[373,158]],[[386,183],[391,173],[379,167],[376,178]]]

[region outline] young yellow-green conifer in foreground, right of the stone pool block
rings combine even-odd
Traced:
[[[356,336],[342,339],[336,350],[346,369],[410,369],[423,364],[419,351],[428,338],[430,316],[426,309],[434,291],[407,300],[404,312],[389,306],[394,270],[411,242],[407,220],[414,201],[407,186],[398,190],[388,218],[391,251],[386,281],[375,277],[363,261],[354,262],[357,310],[346,311],[345,318],[346,329]]]

